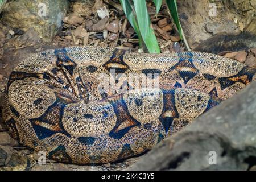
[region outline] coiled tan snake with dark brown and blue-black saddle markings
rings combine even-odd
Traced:
[[[204,52],[47,50],[11,73],[3,119],[19,143],[49,159],[109,163],[150,150],[256,80],[255,73]]]

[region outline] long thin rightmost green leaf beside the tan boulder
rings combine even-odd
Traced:
[[[189,48],[187,39],[185,38],[184,32],[182,30],[181,24],[180,24],[176,0],[166,0],[166,4],[168,6],[168,9],[170,10],[172,19],[174,19],[174,23],[176,24],[176,27],[179,31],[180,39],[184,41],[185,46],[187,47],[188,51],[191,51],[191,49]]]

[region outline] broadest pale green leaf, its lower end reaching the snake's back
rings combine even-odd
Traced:
[[[150,16],[147,12],[146,1],[144,0],[134,0],[134,8],[137,16],[137,22],[139,26],[139,31],[143,42],[145,43],[148,52],[150,53],[160,53],[160,48],[158,46],[158,41],[151,28]]]

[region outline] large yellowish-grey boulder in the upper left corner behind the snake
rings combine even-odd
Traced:
[[[51,42],[67,13],[68,0],[19,0],[6,3],[1,20],[13,28],[33,27],[43,42]]]

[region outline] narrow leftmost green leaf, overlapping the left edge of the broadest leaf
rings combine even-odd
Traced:
[[[133,27],[134,31],[136,32],[139,38],[139,47],[142,47],[142,36],[141,32],[139,31],[139,26],[137,20],[135,18],[135,12],[133,11],[132,5],[127,0],[120,0],[123,12],[125,12],[126,18],[129,20],[131,26]]]

